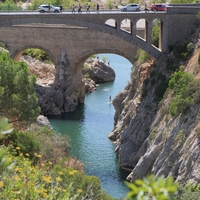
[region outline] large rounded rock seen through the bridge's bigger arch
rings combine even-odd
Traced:
[[[88,74],[95,83],[104,83],[115,80],[114,70],[98,59],[88,59],[87,69],[83,69],[83,75]]]

